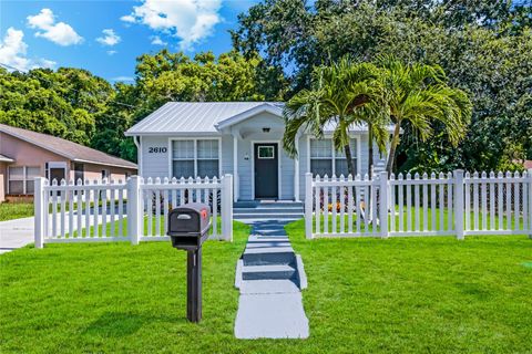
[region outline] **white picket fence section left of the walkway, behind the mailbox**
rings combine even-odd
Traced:
[[[171,209],[205,202],[212,211],[212,239],[233,237],[233,176],[168,179],[133,176],[74,183],[39,177],[34,190],[35,247],[52,242],[167,240]]]

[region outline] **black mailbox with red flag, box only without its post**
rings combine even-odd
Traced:
[[[172,246],[182,250],[196,250],[208,237],[211,209],[206,204],[191,202],[168,214],[168,236]]]

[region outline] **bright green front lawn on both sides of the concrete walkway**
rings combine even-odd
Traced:
[[[204,248],[204,321],[185,320],[168,242],[47,244],[0,256],[1,353],[532,352],[526,237],[304,239],[310,337],[238,341],[234,270],[248,228]]]

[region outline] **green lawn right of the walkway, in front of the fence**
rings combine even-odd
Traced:
[[[305,263],[311,341],[330,352],[532,351],[526,237],[318,239],[287,227]]]

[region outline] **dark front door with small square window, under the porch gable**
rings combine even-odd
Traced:
[[[255,198],[278,199],[278,149],[275,143],[255,144]]]

